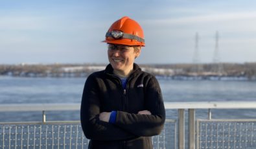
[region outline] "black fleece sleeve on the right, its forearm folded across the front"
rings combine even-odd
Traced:
[[[151,115],[117,111],[115,124],[134,135],[159,135],[165,123],[165,107],[161,89],[154,76],[150,78],[145,87],[145,109],[150,111]]]

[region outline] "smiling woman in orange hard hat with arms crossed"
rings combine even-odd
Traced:
[[[122,17],[106,33],[104,71],[88,76],[82,95],[81,124],[90,149],[150,149],[159,135],[165,107],[156,78],[134,63],[145,46],[141,26]]]

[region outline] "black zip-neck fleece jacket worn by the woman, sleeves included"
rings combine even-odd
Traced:
[[[104,71],[88,76],[80,119],[84,134],[91,139],[89,148],[150,149],[150,137],[161,133],[165,107],[156,78],[134,63],[127,79],[126,89],[122,89],[121,80],[113,75],[110,64]],[[137,114],[142,110],[152,115]],[[103,111],[117,111],[115,124],[99,120],[99,113]]]

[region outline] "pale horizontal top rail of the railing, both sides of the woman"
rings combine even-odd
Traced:
[[[0,104],[0,111],[73,111],[80,103]],[[256,109],[256,102],[165,102],[165,109]]]

